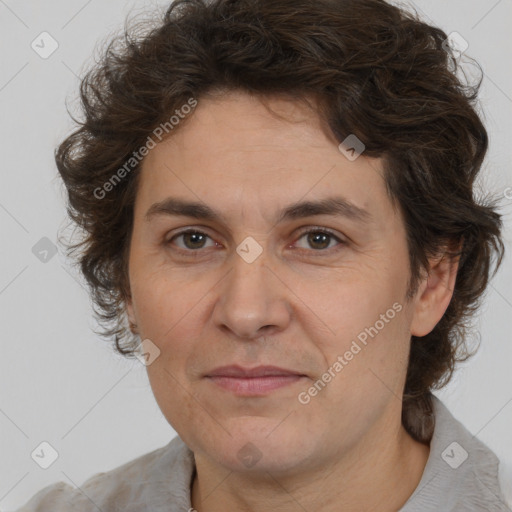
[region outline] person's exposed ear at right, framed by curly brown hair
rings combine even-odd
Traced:
[[[453,296],[459,258],[444,253],[429,260],[430,270],[413,299],[411,334],[426,336],[443,317]]]

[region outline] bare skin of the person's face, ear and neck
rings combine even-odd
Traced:
[[[386,193],[383,162],[364,153],[349,161],[302,103],[268,104],[285,119],[244,93],[201,98],[145,158],[128,316],[161,351],[148,376],[164,416],[194,452],[197,511],[396,511],[429,456],[401,424],[410,337],[441,319],[457,263],[432,260],[407,301],[405,228]],[[171,196],[206,204],[223,221],[146,218]],[[333,196],[367,210],[370,221],[277,222],[291,203]],[[176,236],[184,228],[207,236]],[[307,228],[320,239],[304,235]],[[333,236],[322,239],[325,229]],[[252,263],[236,251],[246,237],[262,249]],[[395,303],[400,312],[300,403],[299,394]],[[204,377],[230,364],[275,365],[305,377],[241,397]],[[237,456],[244,446],[259,457],[251,467]]]

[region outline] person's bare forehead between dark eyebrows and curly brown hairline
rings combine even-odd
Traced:
[[[228,215],[270,215],[301,199],[341,195],[376,219],[393,214],[380,159],[349,161],[302,103],[265,103],[276,115],[243,93],[200,100],[186,123],[146,156],[137,206],[172,195]]]

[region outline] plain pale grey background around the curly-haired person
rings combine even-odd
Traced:
[[[72,129],[79,77],[95,47],[122,29],[127,14],[168,2],[0,0],[0,508],[12,510],[56,481],[81,485],[167,444],[175,435],[161,414],[146,370],[115,355],[95,326],[89,297],[60,253],[43,262],[33,247],[56,242],[66,226],[53,161]],[[482,189],[503,197],[505,241],[512,212],[512,0],[415,0],[447,33],[469,43],[483,67],[481,103],[490,132]],[[31,47],[42,32],[58,42],[43,59]],[[49,46],[46,46],[49,48]],[[510,187],[510,188],[509,188]],[[508,196],[508,198],[506,197]],[[43,244],[36,245],[36,244]],[[41,251],[35,251],[41,255]],[[492,281],[477,327],[477,356],[436,393],[455,417],[512,467],[512,265]],[[49,442],[58,458],[40,468],[31,453]]]

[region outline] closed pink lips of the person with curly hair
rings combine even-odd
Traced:
[[[251,369],[224,366],[206,375],[206,379],[214,385],[238,396],[264,396],[305,378],[307,376],[300,372],[276,366],[258,366]]]

